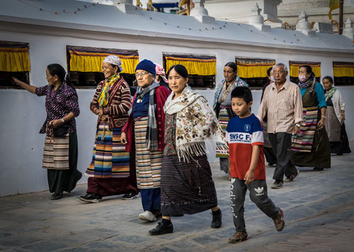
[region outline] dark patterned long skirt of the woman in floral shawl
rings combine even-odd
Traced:
[[[192,215],[216,206],[217,193],[206,155],[194,157],[190,164],[180,162],[177,155],[164,156],[161,172],[162,215]]]

